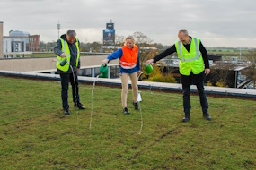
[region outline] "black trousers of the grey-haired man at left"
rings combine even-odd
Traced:
[[[79,104],[79,90],[78,90],[78,79],[77,79],[77,72],[74,72],[75,75],[75,83],[74,83],[74,76],[73,73],[60,73],[60,79],[61,79],[61,98],[62,98],[62,107],[63,108],[68,108],[68,85],[69,81],[72,85],[72,95],[73,95],[73,102],[75,104]]]

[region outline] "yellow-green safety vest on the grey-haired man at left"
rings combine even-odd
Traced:
[[[69,69],[69,64],[70,64],[70,50],[69,50],[69,47],[68,47],[68,44],[67,44],[66,40],[60,38],[60,41],[61,41],[61,45],[62,45],[61,51],[66,54],[66,57],[61,57],[61,56],[57,55],[56,67],[57,67],[57,69],[59,69],[63,72],[67,72],[68,69]],[[76,38],[75,46],[76,46],[76,49],[77,49],[76,66],[78,66],[79,46],[78,46],[78,39],[77,38]],[[61,66],[60,65],[61,61],[65,60],[65,59],[67,59],[66,64],[64,66]]]

